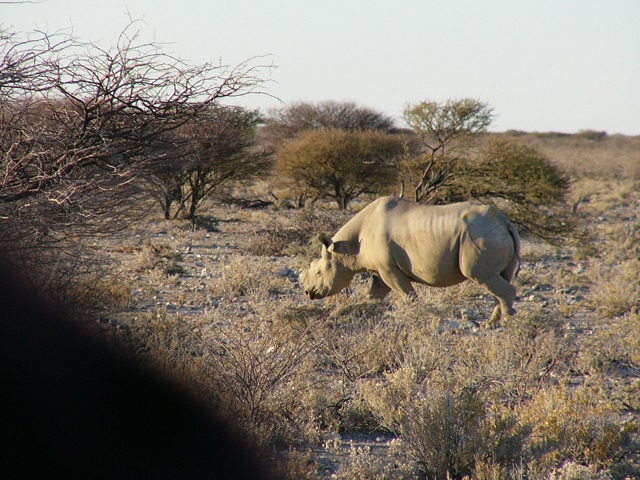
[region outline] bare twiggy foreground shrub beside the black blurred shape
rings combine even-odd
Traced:
[[[290,438],[301,394],[310,388],[310,332],[276,334],[268,322],[212,328],[201,375],[219,404],[250,426],[259,444]]]

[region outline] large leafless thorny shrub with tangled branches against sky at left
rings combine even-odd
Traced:
[[[0,35],[0,246],[52,289],[69,281],[57,265],[79,239],[148,210],[137,180],[175,151],[172,132],[263,82],[255,60],[188,65],[134,28],[111,49],[63,34]]]

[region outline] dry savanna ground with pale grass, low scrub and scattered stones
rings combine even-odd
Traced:
[[[471,282],[376,302],[362,275],[311,302],[313,238],[353,212],[220,199],[197,228],[158,211],[96,245],[113,265],[99,324],[188,379],[282,478],[639,478],[640,138],[511,134],[571,175],[580,235],[523,238],[518,314],[498,329]]]

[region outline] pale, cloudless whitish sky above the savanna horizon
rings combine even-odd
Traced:
[[[407,103],[472,97],[494,131],[640,135],[640,0],[0,0],[0,25],[109,46],[127,12],[194,64],[270,55],[284,104],[248,108],[349,100],[402,125]]]

